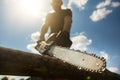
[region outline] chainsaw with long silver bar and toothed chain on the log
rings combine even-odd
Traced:
[[[86,71],[101,73],[106,68],[106,60],[103,57],[53,44],[54,41],[50,41],[49,43],[42,41],[38,43],[35,49],[42,55],[58,58]]]

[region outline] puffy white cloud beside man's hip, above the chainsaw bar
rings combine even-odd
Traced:
[[[73,44],[72,49],[86,51],[87,47],[92,44],[92,40],[88,39],[83,33],[80,33],[71,38]]]

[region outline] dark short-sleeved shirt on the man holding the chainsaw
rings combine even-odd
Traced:
[[[49,13],[46,17],[46,22],[50,26],[51,33],[58,33],[63,30],[65,16],[71,16],[72,12],[70,9],[63,9],[59,13]]]

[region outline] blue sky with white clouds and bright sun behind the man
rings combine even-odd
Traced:
[[[71,48],[107,59],[107,68],[120,73],[120,1],[64,0],[73,12]],[[33,49],[41,25],[51,11],[49,0],[0,0],[0,46]]]

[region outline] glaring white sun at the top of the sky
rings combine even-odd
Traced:
[[[21,10],[26,15],[38,16],[45,9],[44,0],[21,0]]]

